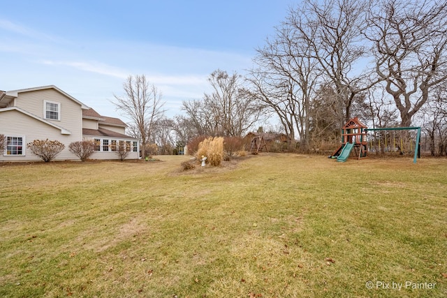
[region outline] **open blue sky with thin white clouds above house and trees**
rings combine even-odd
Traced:
[[[96,112],[146,75],[167,117],[211,93],[217,69],[244,75],[297,0],[0,0],[0,90],[55,85]],[[123,119],[125,120],[125,119]]]

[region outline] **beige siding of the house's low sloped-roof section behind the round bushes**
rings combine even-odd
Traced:
[[[71,135],[62,135],[60,129],[49,126],[21,112],[15,110],[0,112],[0,134],[24,137],[25,150],[25,156],[6,156],[4,155],[5,152],[1,152],[0,161],[41,161],[38,156],[29,151],[26,144],[34,140],[45,139],[58,140],[65,145],[65,149],[55,160],[78,160],[78,157],[68,150],[68,145],[71,142],[82,140],[82,137],[73,133]]]

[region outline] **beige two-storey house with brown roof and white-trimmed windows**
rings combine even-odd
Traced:
[[[0,161],[40,161],[27,143],[58,140],[65,149],[55,160],[79,160],[68,149],[71,142],[94,140],[92,159],[117,159],[117,146],[125,145],[127,159],[139,158],[139,142],[125,135],[126,124],[103,117],[73,96],[50,85],[13,91],[0,91],[0,135],[6,145]]]

